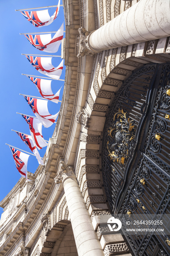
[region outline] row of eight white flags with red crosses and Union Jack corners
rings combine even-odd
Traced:
[[[57,9],[55,10],[52,16],[49,15],[48,10],[41,11],[21,11],[24,17],[31,22],[35,27],[43,27],[50,25],[56,18],[59,12],[60,0],[58,2]],[[63,24],[59,28],[59,30],[52,37],[50,34],[24,34],[30,44],[34,46],[36,49],[39,49],[44,52],[55,53],[58,51],[59,45],[63,39]],[[58,65],[58,67],[54,67],[52,65],[52,57],[37,57],[37,56],[28,56],[26,55],[30,64],[36,68],[41,74],[44,74],[52,79],[59,80],[62,69],[63,69],[63,60]],[[23,140],[23,142],[30,148],[32,153],[36,156],[38,163],[44,165],[42,158],[39,155],[38,150],[48,145],[46,140],[42,135],[42,125],[46,128],[50,127],[58,117],[58,113],[50,114],[48,110],[47,103],[52,101],[54,103],[59,102],[59,93],[61,88],[57,93],[53,93],[51,89],[52,80],[34,78],[32,76],[27,75],[27,77],[35,84],[40,95],[44,99],[29,97],[28,95],[24,95],[27,103],[30,105],[32,111],[34,112],[36,117],[26,116],[21,114],[25,119],[27,124],[29,125],[30,135],[24,134],[22,132],[15,131],[19,137]],[[21,176],[27,177],[27,163],[30,155],[25,154],[18,149],[9,145],[12,151],[12,155],[15,161],[16,168],[18,169]]]

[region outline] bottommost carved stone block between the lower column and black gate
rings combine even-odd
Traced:
[[[120,252],[128,252],[128,246],[126,243],[121,243],[121,244],[109,244],[106,245],[104,248],[104,255],[105,256],[109,256],[111,255],[113,252],[114,253],[120,253]]]

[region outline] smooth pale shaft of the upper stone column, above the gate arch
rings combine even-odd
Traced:
[[[170,0],[140,0],[104,26],[87,34],[85,43],[92,52],[101,52],[168,36]]]

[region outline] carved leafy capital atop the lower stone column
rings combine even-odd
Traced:
[[[64,161],[60,161],[60,168],[58,175],[54,178],[56,184],[64,182],[67,178],[76,178],[73,166],[66,165]]]

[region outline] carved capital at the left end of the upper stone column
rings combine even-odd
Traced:
[[[88,36],[90,34],[90,32],[86,31],[84,27],[81,27],[80,29],[78,29],[78,32],[80,34],[80,39],[79,39],[79,51],[77,54],[77,57],[83,57],[84,55],[94,55],[96,54],[95,52],[93,52],[89,45],[88,45]]]

